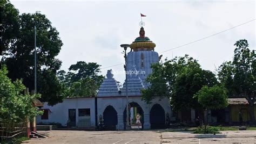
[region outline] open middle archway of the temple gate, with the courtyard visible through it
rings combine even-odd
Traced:
[[[136,116],[138,113],[140,115],[140,123],[142,123],[141,128],[143,129],[144,112],[143,112],[142,107],[136,102],[129,103],[129,123],[131,125],[131,128],[138,129],[138,124],[136,124]],[[124,114],[124,128],[125,128],[125,126],[126,126],[126,107],[125,107],[123,114]]]

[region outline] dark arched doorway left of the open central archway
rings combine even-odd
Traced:
[[[117,125],[117,111],[109,105],[103,112],[103,120],[106,129],[115,130]]]

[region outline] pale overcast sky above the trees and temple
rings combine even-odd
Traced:
[[[255,1],[18,1],[21,13],[41,11],[59,31],[64,46],[57,56],[62,69],[77,61],[97,62],[102,68],[124,63],[120,44],[139,36],[140,13],[147,17],[145,35],[163,58],[189,54],[204,69],[215,71],[232,60],[235,41],[247,39],[255,49],[255,20],[173,51],[160,53],[255,19]],[[130,50],[129,50],[130,51]],[[215,66],[214,66],[215,65]],[[102,69],[123,70],[123,65]],[[123,82],[125,75],[114,75]]]

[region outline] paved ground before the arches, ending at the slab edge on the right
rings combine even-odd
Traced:
[[[48,138],[30,139],[28,143],[160,143],[154,131],[38,131]]]

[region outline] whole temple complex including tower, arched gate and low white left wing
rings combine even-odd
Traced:
[[[42,123],[60,123],[71,127],[95,127],[104,120],[105,127],[123,130],[126,127],[126,85],[129,103],[129,125],[136,127],[136,117],[140,118],[143,129],[164,128],[166,120],[172,117],[169,99],[154,97],[151,103],[142,100],[140,91],[149,86],[146,77],[152,73],[151,64],[159,62],[159,55],[154,51],[156,44],[145,37],[144,27],[140,28],[139,37],[130,45],[127,53],[127,81],[118,87],[112,70],[107,70],[95,98],[66,98],[55,106],[44,104],[48,112],[47,119],[38,118]],[[62,113],[55,113],[60,112]],[[55,114],[54,114],[55,113]],[[78,113],[78,114],[77,114]],[[137,128],[137,127],[136,127]]]

